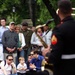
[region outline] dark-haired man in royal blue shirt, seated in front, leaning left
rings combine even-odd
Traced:
[[[30,69],[39,71],[41,70],[42,61],[44,57],[39,55],[38,51],[34,51],[34,58],[31,60]]]

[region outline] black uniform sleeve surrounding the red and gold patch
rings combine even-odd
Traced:
[[[57,39],[57,42],[55,44],[52,43],[51,41],[51,48],[52,51],[49,55],[49,63],[59,63],[63,51],[63,37],[62,37],[62,32],[59,30],[59,28],[55,28],[53,30],[52,36],[55,35],[55,38]]]

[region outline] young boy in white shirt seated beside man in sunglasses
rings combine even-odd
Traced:
[[[19,64],[17,65],[17,74],[25,75],[27,69],[27,65],[25,63],[24,57],[19,57]]]

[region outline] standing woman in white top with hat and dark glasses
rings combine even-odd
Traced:
[[[40,39],[38,38],[38,36],[36,34],[38,34],[44,40],[44,38],[43,38],[43,28],[42,28],[41,25],[37,26],[36,31],[32,34],[31,44],[33,45],[33,49],[35,48],[35,46],[37,46],[42,50],[43,44],[41,43]]]

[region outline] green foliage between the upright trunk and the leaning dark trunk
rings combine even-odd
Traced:
[[[37,17],[37,23],[41,23],[44,24],[48,19],[51,18],[50,13],[48,12],[46,6],[44,5],[44,3],[42,2],[42,0],[37,0],[37,5],[39,5],[40,9],[39,9],[39,16]]]

